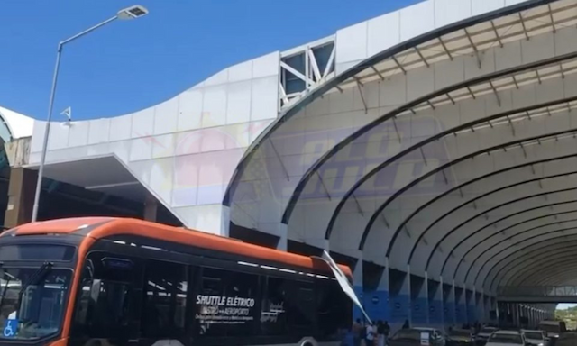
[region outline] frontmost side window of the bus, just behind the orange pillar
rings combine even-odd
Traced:
[[[141,273],[137,259],[100,251],[88,254],[78,291],[73,335],[110,339],[137,335]]]

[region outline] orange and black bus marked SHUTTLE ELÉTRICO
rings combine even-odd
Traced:
[[[133,219],[6,231],[0,275],[0,345],[340,345],[353,311],[321,259]]]

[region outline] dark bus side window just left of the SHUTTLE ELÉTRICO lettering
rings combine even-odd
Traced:
[[[156,338],[183,335],[187,310],[187,267],[149,260],[145,271],[142,335]]]

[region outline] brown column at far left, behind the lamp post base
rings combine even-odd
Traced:
[[[25,168],[10,169],[5,227],[12,228],[32,220],[32,206],[34,205],[37,178],[38,172],[36,170]]]

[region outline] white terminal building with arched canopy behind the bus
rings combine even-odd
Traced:
[[[40,218],[329,250],[393,323],[535,322],[554,305],[497,298],[577,285],[576,25],[576,0],[426,0],[133,114],[52,123]],[[0,115],[14,226],[46,123]]]

